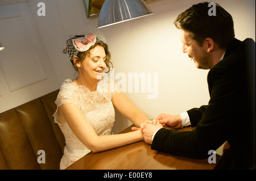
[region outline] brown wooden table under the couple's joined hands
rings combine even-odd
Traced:
[[[130,127],[121,133],[131,131]],[[179,131],[192,131],[187,127]],[[216,154],[216,161],[220,159]],[[122,146],[120,148],[85,155],[73,163],[67,170],[211,170],[215,163],[207,159],[190,159],[162,153],[151,149],[144,141]]]

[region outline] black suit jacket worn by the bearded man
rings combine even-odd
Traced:
[[[209,150],[228,141],[233,168],[249,169],[255,164],[255,42],[234,39],[224,58],[209,70],[207,81],[208,105],[187,111],[196,129],[179,132],[162,128],[151,149],[203,159],[210,156]]]

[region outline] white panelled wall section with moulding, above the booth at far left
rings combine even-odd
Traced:
[[[0,1],[0,39],[0,112],[59,89],[28,1]]]

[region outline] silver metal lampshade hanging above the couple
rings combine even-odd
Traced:
[[[98,27],[154,14],[143,0],[106,0],[98,17]]]

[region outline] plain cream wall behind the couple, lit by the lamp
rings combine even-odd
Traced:
[[[38,2],[46,3],[46,16],[36,14]],[[114,75],[123,73],[128,78],[129,73],[158,73],[157,98],[148,99],[148,92],[126,92],[151,119],[161,112],[176,114],[208,103],[208,70],[197,69],[181,52],[179,31],[173,24],[177,15],[199,2],[152,0],[147,4],[154,15],[100,29],[112,53]],[[255,41],[254,0],[215,2],[233,16],[237,39],[251,37]],[[67,55],[62,53],[65,40],[97,27],[98,17],[87,19],[81,0],[33,0],[29,5],[60,86],[65,78],[75,78]],[[114,132],[130,124],[117,113]]]

